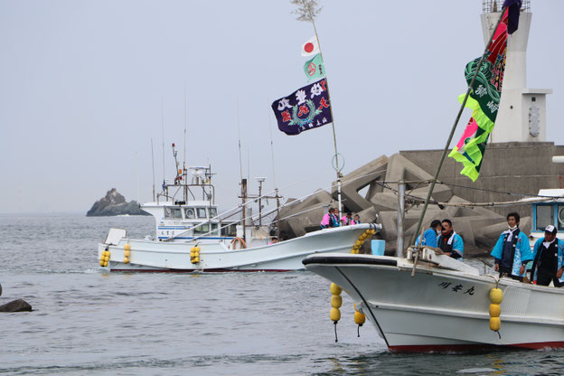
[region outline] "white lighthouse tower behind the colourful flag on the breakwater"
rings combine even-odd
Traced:
[[[484,43],[494,32],[503,0],[482,0]],[[509,35],[500,108],[490,142],[546,141],[546,95],[552,89],[527,88],[527,42],[531,29],[531,0],[522,0],[519,29]]]

